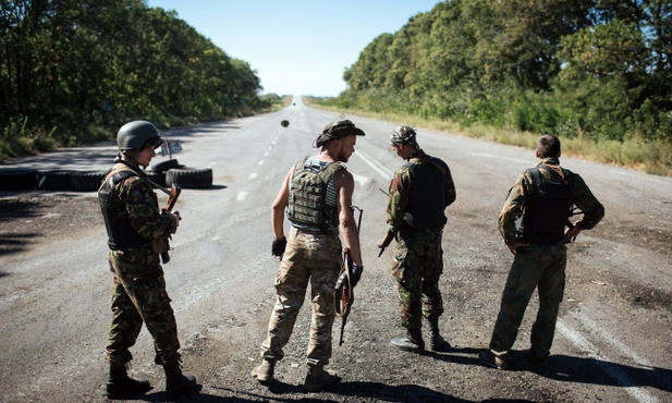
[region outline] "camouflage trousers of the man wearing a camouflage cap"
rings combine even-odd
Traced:
[[[432,319],[443,314],[441,235],[433,229],[402,231],[399,236],[392,276],[399,286],[401,326],[408,330],[419,330],[423,316]]]

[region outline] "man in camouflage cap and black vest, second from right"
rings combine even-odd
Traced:
[[[425,316],[430,350],[448,351],[451,345],[439,332],[443,314],[439,277],[443,272],[444,210],[455,202],[455,184],[448,164],[425,154],[415,137],[410,126],[399,126],[391,135],[392,149],[407,161],[394,172],[388,200],[388,223],[398,240],[392,274],[399,286],[401,325],[406,328],[406,337],[391,342],[404,351],[424,351]]]

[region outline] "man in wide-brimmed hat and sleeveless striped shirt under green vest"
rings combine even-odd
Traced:
[[[354,262],[354,286],[362,276],[359,236],[352,209],[353,175],[339,162],[347,162],[355,151],[357,136],[364,132],[351,121],[328,124],[314,147],[320,152],[302,158],[284,178],[273,202],[271,224],[272,256],[280,261],[276,277],[277,300],[261,343],[261,364],[252,375],[261,383],[273,380],[276,362],[284,357],[296,315],[303,305],[308,282],[313,320],[307,351],[308,373],[304,387],[319,391],[339,378],[326,370],[331,358],[331,330],[335,318],[334,285],[342,264],[339,230]],[[284,237],[286,209],[291,223]]]

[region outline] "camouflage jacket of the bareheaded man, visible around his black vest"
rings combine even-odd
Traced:
[[[560,162],[554,158],[546,158],[538,166],[546,164],[553,171],[559,171]],[[541,178],[551,180],[551,174],[547,170],[539,170]],[[504,243],[510,245],[516,241],[521,241],[522,233],[518,229],[520,220],[525,211],[525,202],[534,192],[534,178],[528,170],[521,173],[516,182],[509,191],[509,196],[499,215],[499,232],[504,239]],[[573,204],[578,207],[584,217],[579,219],[575,225],[577,228],[589,230],[597,225],[604,217],[604,206],[592,195],[584,180],[574,173],[574,185],[572,187]]]

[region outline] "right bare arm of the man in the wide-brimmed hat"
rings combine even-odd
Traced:
[[[357,266],[363,266],[357,223],[355,222],[355,216],[351,208],[353,205],[352,196],[355,192],[355,181],[352,173],[345,170],[337,172],[333,176],[333,185],[339,197],[339,227],[341,236],[343,237],[345,247],[350,248],[350,256],[353,262]]]

